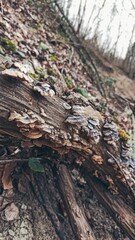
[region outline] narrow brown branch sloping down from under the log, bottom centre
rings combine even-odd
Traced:
[[[81,209],[81,207],[77,204],[72,179],[68,168],[65,165],[59,166],[58,182],[76,239],[94,240],[94,234],[87,222],[83,209]]]

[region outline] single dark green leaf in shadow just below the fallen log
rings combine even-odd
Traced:
[[[29,168],[34,172],[45,172],[43,165],[40,163],[40,160],[40,158],[29,158]]]

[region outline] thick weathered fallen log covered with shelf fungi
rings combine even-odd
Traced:
[[[112,120],[106,120],[88,102],[82,101],[80,96],[70,94],[63,100],[52,95],[52,92],[44,93],[43,86],[35,87],[33,82],[10,76],[7,72],[0,77],[0,92],[1,134],[21,140],[27,148],[45,145],[61,155],[73,151],[79,165],[87,169],[91,176],[95,175],[106,189],[121,195],[123,201],[134,211],[134,172],[130,172],[121,160],[121,141]],[[104,139],[105,128],[109,127],[117,135],[111,141]],[[74,199],[74,194],[72,197]],[[102,202],[106,205],[106,201]],[[109,207],[112,212],[116,211],[116,207],[113,208],[111,204]],[[127,208],[127,216],[130,212]],[[134,213],[132,216],[134,218]],[[76,220],[74,215],[72,219]],[[128,225],[122,224],[122,228],[132,237],[132,221]],[[77,229],[79,228],[80,226]]]

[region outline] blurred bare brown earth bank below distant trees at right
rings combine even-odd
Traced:
[[[103,78],[112,78],[116,82],[114,84],[116,93],[135,101],[135,81],[130,79],[124,72],[118,68],[117,59],[108,60],[102,55],[101,51],[96,49],[90,40],[84,41],[86,48],[90,51],[91,56],[95,60],[98,70]]]

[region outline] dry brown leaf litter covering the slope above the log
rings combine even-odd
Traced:
[[[53,84],[60,96],[64,97],[65,92],[68,94],[77,91],[80,93],[80,98],[86,98],[86,101],[89,100],[99,107],[103,113],[106,111],[104,99],[89,81],[78,54],[62,36],[53,32],[37,8],[32,7],[25,0],[13,1],[11,4],[5,1],[0,16],[0,26],[0,70],[3,75],[33,84],[34,74],[35,76],[38,74],[38,80],[42,78],[45,82]],[[124,109],[117,108],[117,104],[115,106],[111,99],[109,104],[107,111],[116,113],[115,120],[119,125],[125,131],[132,130],[132,113],[127,116],[127,106]],[[32,168],[35,168],[34,164],[32,163]],[[42,171],[40,163],[36,162],[36,164]],[[5,189],[9,191],[12,189],[8,177],[3,177],[3,183]],[[14,203],[9,204],[5,209],[7,221],[17,218],[18,215],[19,210]],[[98,221],[96,219],[97,223]],[[108,238],[103,236],[100,239]],[[119,239],[124,240],[124,237]]]

